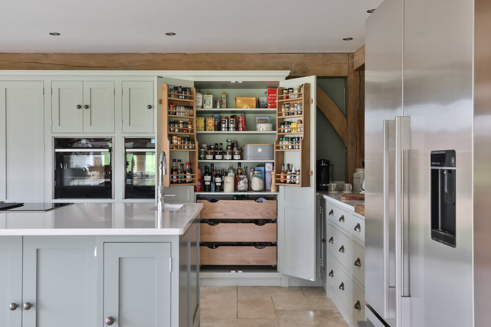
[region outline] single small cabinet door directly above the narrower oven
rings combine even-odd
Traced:
[[[153,133],[153,82],[123,82],[123,133]]]

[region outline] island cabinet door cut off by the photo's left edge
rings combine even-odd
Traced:
[[[0,237],[0,263],[0,326],[21,327],[22,236]]]

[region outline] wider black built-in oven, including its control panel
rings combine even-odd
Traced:
[[[54,199],[113,199],[112,138],[54,138]]]

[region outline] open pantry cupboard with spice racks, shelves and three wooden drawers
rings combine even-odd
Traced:
[[[200,251],[202,284],[286,286],[289,276],[316,280],[315,151],[310,151],[315,149],[315,76],[285,80],[288,71],[176,73],[172,77],[181,78],[161,79],[162,104],[157,113],[157,121],[160,122],[157,149],[167,154],[168,168],[174,158],[191,162],[192,183],[172,184],[169,176],[166,176],[164,185],[171,186],[166,189],[166,194],[175,194],[166,201],[188,200],[204,204]],[[281,103],[286,103],[286,100],[278,101],[279,108],[236,108],[236,97],[265,97],[267,88],[276,88],[279,92],[282,88],[300,84],[304,84],[304,95],[293,100],[302,102],[301,114],[280,116]],[[193,103],[192,116],[169,117],[168,104],[178,102],[169,98],[169,89],[174,86],[191,87],[191,99],[195,99],[198,90],[203,95],[209,92],[214,100],[221,99],[221,93],[226,92],[226,108],[196,108]],[[282,98],[282,94],[279,94],[277,99]],[[221,117],[244,114],[246,131],[196,131],[196,117],[206,120],[212,114],[220,114]],[[255,116],[271,116],[273,131],[256,131]],[[195,149],[170,149],[168,136],[176,133],[169,133],[168,122],[181,118],[192,121],[193,130],[188,131],[188,135],[194,138]],[[282,122],[298,119],[303,120],[301,133],[284,134],[279,130]],[[298,151],[276,151],[280,150],[280,137],[294,134],[302,138]],[[226,145],[227,139],[237,140],[239,148],[244,144],[273,144],[274,160],[197,160],[197,150],[201,144]],[[208,167],[214,164],[216,169],[226,170],[229,165],[237,168],[239,162],[244,168],[272,161],[278,174],[273,176],[277,192],[194,192],[197,168],[204,172],[205,164]],[[298,185],[280,183],[282,162],[300,168]],[[233,200],[237,194],[247,195],[249,200]],[[267,201],[256,202],[260,197]]]

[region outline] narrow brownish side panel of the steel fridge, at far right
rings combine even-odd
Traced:
[[[474,324],[491,321],[491,1],[474,9]]]

